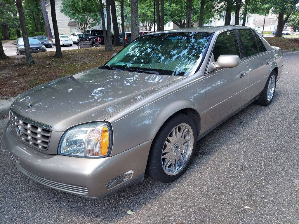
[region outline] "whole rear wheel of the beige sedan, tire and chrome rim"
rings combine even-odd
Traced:
[[[266,82],[266,86],[263,89],[262,94],[260,95],[260,98],[255,101],[256,104],[268,106],[272,102],[275,93],[275,88],[276,88],[275,75],[276,75],[275,71],[272,71]]]

